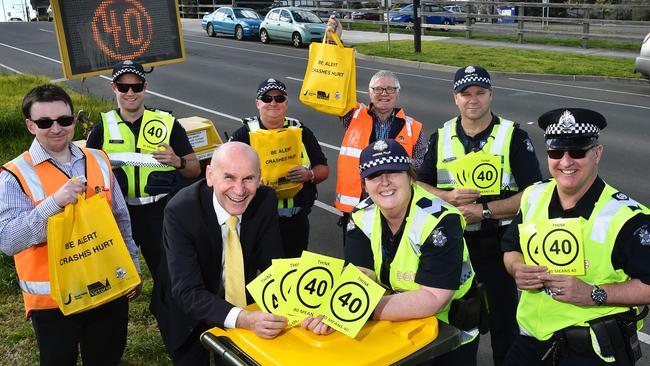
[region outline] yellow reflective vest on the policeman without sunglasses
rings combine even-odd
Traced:
[[[445,122],[443,127],[438,130],[438,136],[440,139],[438,142],[438,146],[442,145],[442,148],[439,149],[439,151],[442,151],[442,155],[440,156],[440,158],[438,159],[438,163],[436,164],[437,166],[436,186],[438,188],[450,188],[450,186],[456,184],[456,180],[454,179],[453,174],[447,168],[445,163],[449,163],[462,156],[465,156],[464,153],[459,156],[456,156],[456,154],[454,153],[453,137],[455,136],[456,133],[456,121],[457,121],[456,118],[451,119]],[[497,127],[496,130],[492,128],[492,131],[490,133],[490,136],[493,138],[493,141],[491,142],[489,141],[488,143],[491,143],[490,153],[493,155],[501,156],[502,163],[508,164],[508,166],[503,165],[501,167],[501,187],[502,188],[509,187],[510,190],[517,191],[518,190],[517,183],[514,179],[514,176],[512,175],[512,171],[509,166],[510,146],[509,144],[506,144],[506,142],[509,141],[509,138],[512,136],[512,131],[514,131],[513,128],[514,125],[515,125],[514,122],[499,117],[499,124],[496,125]]]

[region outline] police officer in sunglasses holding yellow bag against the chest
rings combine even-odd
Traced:
[[[309,242],[308,215],[318,195],[316,185],[329,176],[327,158],[314,133],[300,121],[287,117],[289,101],[287,88],[283,82],[273,78],[262,81],[257,88],[255,105],[259,116],[245,118],[244,125],[232,134],[231,140],[249,144],[258,154],[264,155],[260,156],[263,177],[269,169],[278,168],[283,169],[279,174],[278,183],[289,181],[302,184],[302,188],[289,197],[280,194],[277,189],[278,184],[272,184],[278,192],[278,214],[285,255],[289,258],[299,257],[302,251],[307,249]],[[262,134],[265,131],[274,131],[276,135],[286,134],[283,129],[294,128],[299,129],[301,133],[300,144],[278,145],[267,155],[262,153],[261,147],[269,148],[268,145],[255,146],[251,143],[256,139],[255,134]],[[279,135],[278,139],[266,141],[274,143],[274,140],[278,142]],[[285,159],[295,158],[299,158],[298,164],[289,166],[282,164]],[[264,181],[266,185],[269,183],[267,180]]]

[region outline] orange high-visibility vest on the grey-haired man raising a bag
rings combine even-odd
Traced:
[[[370,143],[373,127],[372,115],[368,112],[368,107],[363,104],[357,107],[341,143],[334,207],[343,212],[352,212],[352,209],[361,200],[359,157],[361,151]],[[395,137],[395,141],[399,142],[409,154],[409,157],[413,158],[413,148],[422,132],[422,123],[407,116],[403,109],[400,109],[395,117],[406,121],[402,130]]]

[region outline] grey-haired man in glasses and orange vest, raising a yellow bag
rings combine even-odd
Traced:
[[[368,83],[368,95],[369,105],[359,103],[341,117],[346,130],[338,158],[334,206],[343,212],[339,225],[343,228],[344,244],[348,226],[350,229],[354,226],[348,225],[350,213],[364,194],[359,174],[361,150],[377,140],[393,139],[404,147],[416,170],[427,151],[426,139],[421,134],[422,123],[397,107],[400,84],[394,73],[376,72]]]

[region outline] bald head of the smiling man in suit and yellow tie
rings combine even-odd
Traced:
[[[261,182],[260,159],[241,142],[227,142],[212,154],[205,179],[219,205],[236,216],[246,211]]]

